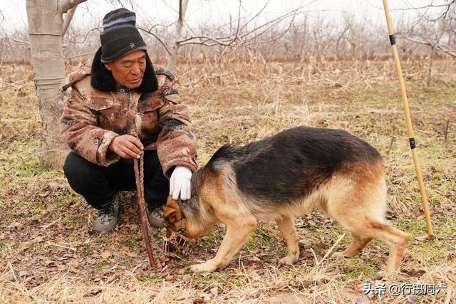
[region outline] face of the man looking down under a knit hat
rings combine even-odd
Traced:
[[[116,83],[129,89],[138,88],[144,77],[145,52],[134,51],[116,61],[105,63],[105,67],[113,73]]]

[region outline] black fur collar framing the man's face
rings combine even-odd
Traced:
[[[145,52],[145,61],[146,65],[142,83],[138,88],[133,89],[138,93],[153,92],[158,89],[157,75],[155,75],[155,69],[147,52]],[[90,74],[90,85],[92,85],[95,90],[103,92],[115,91],[113,74],[105,67],[105,64],[101,62],[101,47],[98,48],[95,56],[93,56]]]

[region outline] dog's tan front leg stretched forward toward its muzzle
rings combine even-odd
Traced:
[[[239,221],[240,219],[240,221]],[[254,216],[240,216],[227,224],[227,233],[214,258],[197,265],[190,266],[190,270],[199,273],[202,271],[216,271],[227,266],[234,254],[247,242],[257,226]]]

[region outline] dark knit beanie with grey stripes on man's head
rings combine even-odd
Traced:
[[[124,8],[110,11],[105,15],[100,40],[102,63],[113,62],[134,51],[147,51],[145,42],[136,28],[136,14]]]

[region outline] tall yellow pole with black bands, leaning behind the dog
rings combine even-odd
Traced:
[[[388,34],[390,35],[391,48],[393,49],[393,57],[398,73],[399,86],[400,86],[400,99],[404,105],[405,112],[405,123],[407,124],[407,132],[410,141],[410,148],[412,150],[413,164],[415,164],[416,178],[418,179],[418,185],[420,187],[421,202],[423,203],[423,209],[425,211],[427,235],[432,236],[432,222],[430,221],[429,204],[427,202],[427,196],[425,191],[425,184],[423,183],[423,176],[421,175],[420,162],[418,161],[418,154],[415,146],[415,135],[413,134],[412,120],[410,118],[410,110],[408,108],[407,93],[405,92],[404,79],[402,76],[402,68],[400,68],[398,48],[396,47],[395,37],[393,32],[393,26],[391,25],[390,11],[388,9],[387,0],[383,0],[383,8],[385,9],[386,24],[388,25]]]

